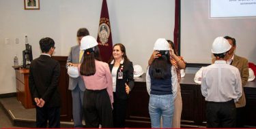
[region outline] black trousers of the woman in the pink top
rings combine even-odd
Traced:
[[[109,94],[104,90],[85,90],[83,111],[86,128],[113,127],[112,107]]]

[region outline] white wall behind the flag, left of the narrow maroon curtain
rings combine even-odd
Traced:
[[[108,0],[113,43],[126,46],[128,58],[144,71],[154,42],[163,37],[173,40],[174,0]],[[68,56],[76,45],[76,31],[86,27],[98,33],[102,0],[41,0],[40,10],[24,10],[22,0],[0,1],[0,94],[16,92],[14,55],[22,60],[24,37],[29,37],[33,58],[40,55],[38,41],[52,37],[55,56]],[[5,44],[5,38],[10,44]],[[15,39],[19,43],[15,43]]]

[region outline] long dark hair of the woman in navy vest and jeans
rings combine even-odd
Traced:
[[[170,72],[168,71],[168,67],[171,66],[169,51],[160,51],[160,54],[162,56],[155,58],[150,65],[150,75],[154,79],[165,79],[168,75],[167,73]]]

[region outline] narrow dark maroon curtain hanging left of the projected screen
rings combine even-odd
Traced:
[[[173,31],[175,50],[180,54],[180,0],[175,0],[175,24]]]

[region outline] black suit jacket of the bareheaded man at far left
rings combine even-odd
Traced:
[[[59,107],[61,98],[59,84],[60,64],[50,56],[40,55],[32,60],[29,69],[29,90],[33,98],[42,98],[46,107]],[[34,103],[35,104],[35,103]]]

